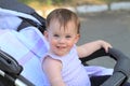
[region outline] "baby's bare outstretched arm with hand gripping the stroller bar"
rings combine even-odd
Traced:
[[[87,57],[91,55],[92,53],[94,53],[95,51],[102,47],[107,53],[108,47],[112,47],[112,45],[103,40],[98,40],[98,41],[93,41],[93,42],[86,43],[83,45],[78,46],[77,52],[78,52],[79,57],[81,58],[81,57]]]

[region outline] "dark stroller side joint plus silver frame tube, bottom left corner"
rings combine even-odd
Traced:
[[[9,54],[0,49],[0,76],[11,81],[15,86],[35,86],[21,75],[23,68]]]

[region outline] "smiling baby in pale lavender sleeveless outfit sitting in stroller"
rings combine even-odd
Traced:
[[[74,12],[67,9],[52,11],[47,17],[44,37],[50,48],[42,59],[42,67],[49,86],[91,86],[91,76],[113,73],[112,69],[81,64],[79,58],[87,57],[102,47],[107,52],[112,45],[98,40],[77,46],[80,22]]]

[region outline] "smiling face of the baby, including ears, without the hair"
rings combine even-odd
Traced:
[[[66,55],[79,39],[74,22],[68,22],[64,27],[55,19],[50,23],[46,37],[50,43],[50,52],[58,56]]]

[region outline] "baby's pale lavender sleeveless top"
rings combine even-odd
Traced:
[[[47,55],[62,61],[62,76],[67,86],[91,86],[89,75],[78,58],[76,46],[63,57],[50,53]]]

